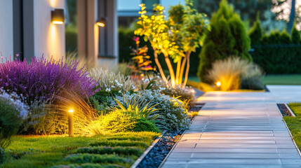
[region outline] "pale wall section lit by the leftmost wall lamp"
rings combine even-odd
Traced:
[[[34,55],[60,59],[65,57],[65,25],[51,23],[52,8],[65,8],[65,0],[34,0]]]

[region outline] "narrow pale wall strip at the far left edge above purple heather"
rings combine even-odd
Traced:
[[[0,52],[5,60],[13,56],[13,1],[0,0],[0,20]]]

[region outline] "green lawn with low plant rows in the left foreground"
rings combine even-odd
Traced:
[[[129,132],[72,138],[13,137],[6,148],[8,158],[0,167],[131,167],[158,136]]]

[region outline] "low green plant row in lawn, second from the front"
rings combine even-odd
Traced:
[[[102,163],[102,164],[133,162],[133,160],[128,160],[127,158],[121,158],[118,155],[98,155],[98,154],[87,154],[87,153],[69,155],[64,160],[72,163]]]

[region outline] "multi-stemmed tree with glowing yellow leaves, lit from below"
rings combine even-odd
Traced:
[[[166,20],[163,15],[164,7],[157,5],[154,13],[148,16],[145,4],[141,4],[140,18],[138,25],[141,28],[135,30],[135,34],[144,36],[145,41],[149,41],[154,49],[154,60],[158,66],[163,80],[168,80],[163,73],[158,56],[162,53],[170,73],[170,82],[175,85],[182,84],[185,71],[184,85],[187,83],[189,73],[189,57],[191,52],[201,46],[204,32],[208,30],[208,20],[205,14],[197,13],[192,8],[192,1],[187,0],[186,5],[170,6],[169,17]],[[170,58],[177,64],[174,71]]]

